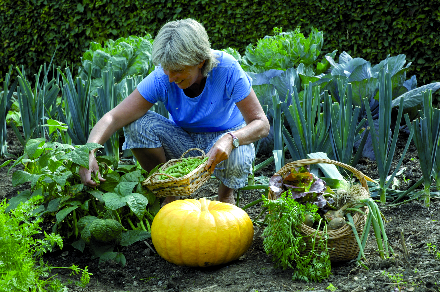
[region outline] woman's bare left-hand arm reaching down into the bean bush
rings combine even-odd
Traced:
[[[117,130],[124,127],[126,124],[131,123],[134,120],[139,119],[148,110],[150,110],[153,104],[147,102],[146,99],[140,95],[139,91],[135,89],[126,99],[118,104],[113,110],[106,113],[93,127],[87,142],[95,142],[103,145],[110,136]],[[97,183],[92,180],[92,172],[96,175],[99,172],[98,163],[95,159],[95,152],[97,149],[90,151],[88,165],[89,169],[81,167],[79,174],[81,176],[81,182],[85,186],[95,187]],[[105,179],[98,176],[99,181],[104,182]]]

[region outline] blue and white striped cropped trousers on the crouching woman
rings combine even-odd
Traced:
[[[163,147],[167,160],[177,159],[191,148],[199,148],[207,153],[227,132],[236,131],[245,125],[218,132],[192,133],[183,130],[172,120],[149,110],[143,117],[124,127],[125,142],[122,149]],[[201,155],[194,150],[189,154]],[[254,157],[253,143],[240,145],[232,150],[227,160],[216,165],[214,176],[231,189],[241,188],[252,174]]]

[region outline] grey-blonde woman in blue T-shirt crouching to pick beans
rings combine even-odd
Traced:
[[[151,57],[154,71],[96,123],[88,142],[102,145],[124,127],[122,148],[131,149],[147,172],[200,148],[209,156],[206,169],[220,180],[217,200],[234,204],[233,189],[252,173],[253,142],[269,132],[252,79],[231,55],[211,49],[204,27],[191,18],[166,23]],[[149,111],[158,101],[172,120]],[[80,169],[85,186],[97,185],[91,178],[99,172],[95,152],[89,153],[89,169]],[[105,179],[99,175],[99,181]],[[166,197],[164,204],[178,199]]]

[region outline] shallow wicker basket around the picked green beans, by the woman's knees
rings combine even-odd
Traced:
[[[161,169],[166,169],[169,166],[176,164],[177,162],[182,162],[185,154],[190,152],[191,150],[198,150],[202,152],[202,156],[195,156],[190,158],[199,158],[203,159],[206,157],[206,154],[203,150],[198,148],[188,149],[179,159],[172,159],[162,165]],[[150,191],[156,195],[156,197],[167,197],[167,196],[189,196],[199,187],[201,187],[208,179],[211,178],[211,174],[209,171],[205,170],[205,166],[208,161],[200,164],[196,169],[192,172],[184,175],[180,178],[172,177],[171,175],[161,173],[159,170],[150,175],[147,179],[142,182],[143,186],[146,186]],[[159,175],[168,176],[169,179],[157,180]]]

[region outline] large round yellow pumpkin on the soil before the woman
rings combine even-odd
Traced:
[[[215,266],[250,247],[253,225],[242,209],[219,201],[187,199],[166,204],[151,224],[159,255],[178,266]]]

